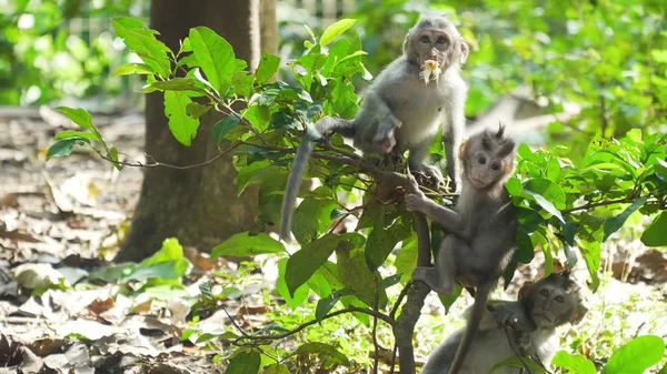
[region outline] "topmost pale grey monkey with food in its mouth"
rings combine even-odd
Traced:
[[[404,54],[369,85],[355,119],[325,117],[307,129],[285,190],[280,236],[289,236],[298,188],[315,146],[313,140],[327,132],[352,138],[355,146],[365,154],[392,151],[402,154],[409,150],[410,170],[426,174],[440,186],[442,173],[425,160],[441,124],[447,173],[451,185],[457,185],[459,165],[455,154],[465,130],[464,107],[468,94],[460,70],[468,50],[449,19],[422,18],[408,31]],[[427,68],[434,61],[438,70],[431,73]]]

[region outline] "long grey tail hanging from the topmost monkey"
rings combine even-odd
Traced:
[[[295,162],[292,163],[291,171],[289,172],[287,186],[285,188],[285,195],[282,196],[280,237],[283,240],[289,237],[289,233],[291,231],[292,213],[297,203],[297,195],[299,194],[299,185],[301,184],[301,179],[303,179],[303,173],[306,172],[306,166],[308,165],[310,154],[312,154],[312,150],[315,149],[315,142],[320,140],[328,131],[338,132],[344,137],[354,137],[354,120],[325,117],[323,119],[317,121],[315,127],[308,129],[303,134],[301,144],[299,144],[297,154],[295,154]]]

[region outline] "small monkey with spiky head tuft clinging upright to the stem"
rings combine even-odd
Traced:
[[[515,253],[517,212],[505,189],[515,168],[515,148],[501,124],[498,132],[485,130],[461,144],[461,192],[456,210],[427,199],[414,178],[417,192],[405,199],[408,211],[425,214],[447,232],[435,266],[417,266],[412,282],[422,281],[441,295],[450,295],[455,282],[477,287],[470,322],[451,365],[452,374],[458,373],[469,351],[491,287]]]

